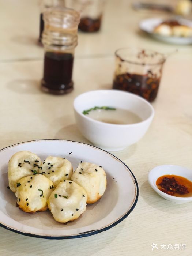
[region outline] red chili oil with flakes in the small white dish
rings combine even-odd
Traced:
[[[192,182],[182,176],[163,175],[157,179],[156,185],[159,190],[171,196],[192,196]]]

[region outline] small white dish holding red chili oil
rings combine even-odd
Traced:
[[[187,178],[189,181],[192,181],[192,170],[178,165],[159,165],[148,172],[148,182],[150,186],[155,190],[155,192],[157,192],[160,196],[173,203],[178,204],[191,202],[192,197],[171,196],[157,188],[157,179],[166,174],[182,176],[184,178]]]

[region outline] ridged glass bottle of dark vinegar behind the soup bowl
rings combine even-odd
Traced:
[[[77,45],[79,13],[64,7],[47,8],[43,14],[45,48],[41,89],[52,94],[73,90],[72,70]]]

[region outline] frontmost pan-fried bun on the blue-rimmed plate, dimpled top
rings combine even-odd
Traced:
[[[61,223],[74,221],[86,209],[87,193],[73,181],[60,182],[48,199],[53,218]]]

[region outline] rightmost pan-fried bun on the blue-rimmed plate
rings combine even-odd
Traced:
[[[106,174],[102,166],[81,162],[71,176],[71,180],[82,186],[87,192],[87,204],[97,202],[106,189]]]

